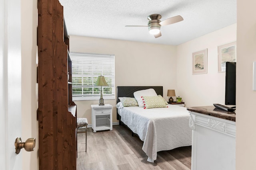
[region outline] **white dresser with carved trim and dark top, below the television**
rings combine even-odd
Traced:
[[[235,170],[235,114],[214,106],[188,107],[188,110],[192,129],[191,169]]]

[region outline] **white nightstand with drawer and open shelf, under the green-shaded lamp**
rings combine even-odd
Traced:
[[[93,132],[112,131],[112,105],[105,104],[104,106],[99,106],[98,104],[93,104],[91,107]]]

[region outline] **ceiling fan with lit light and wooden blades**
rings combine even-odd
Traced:
[[[160,21],[162,16],[160,14],[151,14],[148,16],[148,26],[146,25],[125,25],[126,27],[148,27],[149,33],[153,34],[155,38],[160,37],[162,34],[160,32],[160,27],[164,25],[170,25],[172,23],[183,21],[182,16],[175,16],[168,18],[164,21]]]

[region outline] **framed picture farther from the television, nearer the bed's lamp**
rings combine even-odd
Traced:
[[[207,49],[192,54],[192,74],[207,73]]]

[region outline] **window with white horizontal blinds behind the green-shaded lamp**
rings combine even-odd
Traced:
[[[115,99],[115,56],[70,53],[72,61],[73,100],[98,100],[100,86],[94,86],[98,76],[105,77],[109,86],[102,86],[104,99]]]

